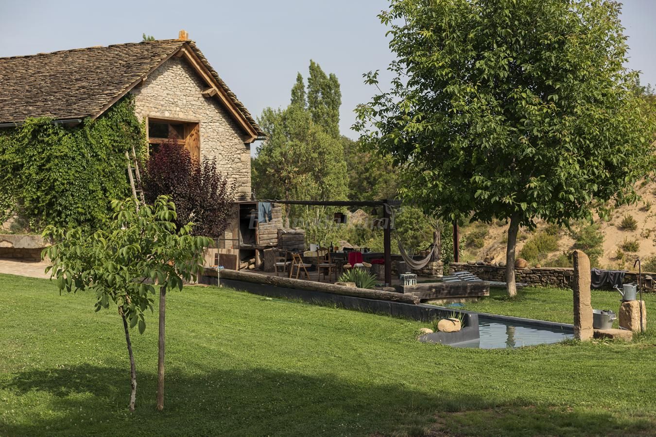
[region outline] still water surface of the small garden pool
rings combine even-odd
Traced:
[[[571,330],[502,322],[483,317],[478,319],[478,332],[480,339],[457,343],[453,346],[504,349],[558,343],[574,336]]]

